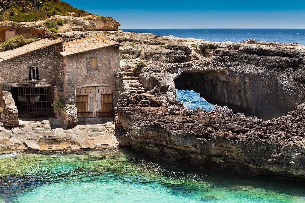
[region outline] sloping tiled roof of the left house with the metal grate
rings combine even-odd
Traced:
[[[16,56],[27,54],[31,51],[35,51],[35,50],[38,50],[38,49],[41,49],[44,47],[48,47],[50,45],[54,45],[57,43],[62,43],[62,40],[61,39],[56,39],[56,40],[43,39],[43,40],[39,40],[36,42],[32,42],[30,44],[26,44],[22,47],[18,47],[13,50],[2,51],[2,52],[0,52],[0,62],[14,58]]]

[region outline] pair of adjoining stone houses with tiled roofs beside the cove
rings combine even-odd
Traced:
[[[113,115],[118,71],[118,43],[103,35],[66,43],[43,39],[0,52],[1,95],[12,94],[19,117],[57,113],[68,125],[77,117]],[[64,107],[54,112],[59,97]]]

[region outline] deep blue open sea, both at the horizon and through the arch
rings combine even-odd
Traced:
[[[204,39],[213,42],[241,42],[247,39],[257,41],[300,43],[305,45],[305,29],[123,29],[127,32],[152,33],[154,35],[173,35],[182,38]],[[188,108],[213,110],[198,93],[192,90],[176,90],[177,99]]]

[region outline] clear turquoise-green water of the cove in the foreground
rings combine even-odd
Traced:
[[[303,184],[172,166],[129,150],[0,155],[0,202],[304,202]]]

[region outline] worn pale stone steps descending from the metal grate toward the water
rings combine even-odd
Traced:
[[[27,123],[38,134],[39,145],[42,149],[63,150],[66,148],[64,143],[61,143],[61,139],[52,131],[49,121],[28,121]]]

